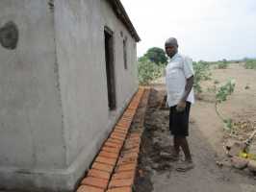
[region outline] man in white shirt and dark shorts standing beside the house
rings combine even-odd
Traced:
[[[193,168],[187,136],[189,135],[189,117],[191,104],[194,103],[192,90],[192,59],[178,53],[178,42],[174,37],[166,40],[166,54],[169,62],[166,65],[166,92],[169,110],[169,130],[173,135],[174,160],[179,160],[180,148],[185,155],[184,163],[177,171]]]

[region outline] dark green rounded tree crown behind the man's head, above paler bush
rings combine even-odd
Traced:
[[[167,63],[166,53],[163,49],[159,47],[152,47],[148,49],[144,57],[152,62],[155,62],[158,65],[161,63]]]

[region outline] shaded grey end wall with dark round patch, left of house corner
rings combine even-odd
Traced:
[[[10,21],[18,31],[13,49],[3,46]],[[1,188],[33,179],[32,186],[41,180],[36,173],[66,167],[54,36],[47,1],[0,1]]]

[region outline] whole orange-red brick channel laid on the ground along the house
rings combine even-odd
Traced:
[[[76,192],[132,192],[136,178],[144,113],[139,128],[129,132],[139,105],[145,110],[149,87],[140,86],[95,157]]]

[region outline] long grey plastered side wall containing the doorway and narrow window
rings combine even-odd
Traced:
[[[72,163],[83,151],[90,163],[102,138],[111,131],[138,88],[136,42],[104,0],[59,0],[55,6],[58,8],[56,42],[67,132],[67,162]],[[115,111],[108,108],[104,26],[108,26],[115,36]],[[127,70],[123,61],[122,39],[125,36],[128,38]]]

